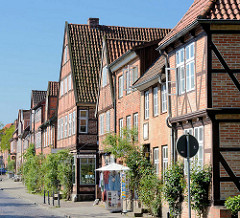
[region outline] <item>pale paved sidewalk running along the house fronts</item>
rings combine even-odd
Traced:
[[[51,205],[43,204],[43,196],[33,195],[27,193],[22,182],[14,182],[12,179],[8,179],[6,176],[3,177],[3,181],[0,181],[0,189],[7,192],[9,195],[12,195],[16,198],[21,198],[30,201],[33,204],[36,204],[44,209],[51,210],[52,213],[57,216],[64,217],[106,217],[106,218],[114,218],[114,217],[132,217],[132,213],[127,215],[122,215],[121,213],[110,213],[105,209],[104,205],[93,206],[93,202],[69,202],[65,200],[61,200],[61,207],[58,208],[56,206],[52,206],[52,198]],[[47,198],[46,198],[47,203]],[[55,201],[55,205],[57,205],[57,201]]]

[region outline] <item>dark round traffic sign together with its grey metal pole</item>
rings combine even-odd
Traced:
[[[194,157],[199,149],[199,144],[197,139],[190,135],[182,135],[177,141],[177,151],[178,153],[187,158],[188,165],[188,217],[191,218],[191,196],[190,196],[190,158]]]

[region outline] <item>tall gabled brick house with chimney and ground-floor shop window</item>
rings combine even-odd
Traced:
[[[87,25],[66,23],[59,79],[57,148],[69,148],[74,154],[74,199],[95,198],[98,180],[95,169],[99,165],[95,109],[103,38],[118,39],[123,35],[124,40],[150,41],[162,38],[162,32],[103,26],[98,18],[89,18]]]

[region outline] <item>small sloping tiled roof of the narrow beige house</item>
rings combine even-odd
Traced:
[[[150,81],[158,79],[165,66],[165,57],[160,56],[155,63],[133,84],[134,88],[140,87]]]

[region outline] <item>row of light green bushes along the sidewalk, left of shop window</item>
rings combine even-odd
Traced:
[[[23,179],[27,189],[42,192],[57,192],[62,188],[67,199],[72,191],[72,155],[68,150],[57,154],[36,155],[31,144],[24,154]]]

